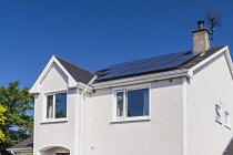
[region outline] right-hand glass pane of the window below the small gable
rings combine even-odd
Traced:
[[[67,93],[55,94],[55,118],[67,117]]]

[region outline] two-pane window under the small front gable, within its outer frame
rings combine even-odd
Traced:
[[[67,93],[47,95],[47,118],[67,117]]]

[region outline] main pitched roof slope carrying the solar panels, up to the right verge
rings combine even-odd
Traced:
[[[176,69],[190,69],[224,46],[225,45],[211,48],[205,52],[205,55],[203,56],[200,56],[200,54],[194,55],[192,51],[184,51],[110,65],[95,72],[98,75],[95,83],[150,73],[172,71]]]

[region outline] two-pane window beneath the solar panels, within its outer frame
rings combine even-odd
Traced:
[[[149,116],[149,89],[118,91],[115,100],[116,118]]]

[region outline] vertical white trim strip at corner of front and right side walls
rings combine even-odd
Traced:
[[[183,103],[183,155],[188,155],[188,80],[182,78],[182,103]]]

